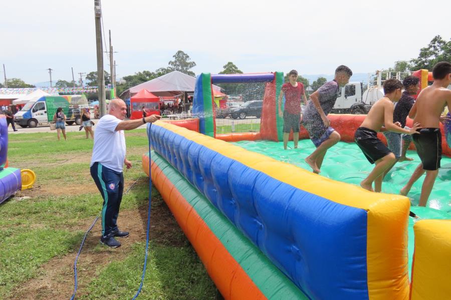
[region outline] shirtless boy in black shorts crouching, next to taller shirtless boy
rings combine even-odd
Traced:
[[[368,177],[360,182],[360,186],[366,190],[380,192],[382,177],[385,170],[390,168],[396,161],[395,155],[377,138],[379,131],[392,131],[404,134],[418,133],[416,129],[419,124],[415,123],[413,128],[401,128],[401,124],[393,124],[393,102],[397,102],[402,95],[402,84],[399,80],[388,79],[384,83],[385,96],[379,99],[370,109],[365,120],[357,128],[354,139],[370,163],[376,166]]]

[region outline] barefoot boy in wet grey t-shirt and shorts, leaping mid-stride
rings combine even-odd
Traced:
[[[330,127],[327,115],[340,96],[344,87],[352,76],[352,71],[346,66],[339,66],[335,70],[333,81],[326,82],[316,92],[310,95],[310,100],[305,109],[302,125],[307,129],[310,140],[316,146],[316,150],[305,158],[314,173],[321,172],[321,165],[327,149],[340,141],[340,134]]]

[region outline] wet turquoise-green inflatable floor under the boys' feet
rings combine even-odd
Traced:
[[[304,161],[315,150],[310,140],[300,140],[298,149],[290,149],[293,148],[293,142],[290,141],[288,150],[283,149],[282,142],[241,141],[233,144],[249,151],[261,153],[276,160],[311,170]],[[397,163],[384,178],[382,192],[397,194],[408,181],[419,163],[419,158],[415,151],[407,151],[407,157],[411,157],[414,160]],[[356,144],[339,142],[327,151],[321,167],[321,175],[337,181],[358,185],[371,172],[373,167],[374,165],[368,162]],[[424,175],[415,182],[407,195],[412,205],[411,210],[422,219],[451,219],[451,158],[443,157],[441,159],[441,168],[427,201],[427,207],[417,207],[423,180]],[[414,245],[413,223],[413,218],[409,218],[409,272]]]

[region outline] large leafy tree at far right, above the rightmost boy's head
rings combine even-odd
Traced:
[[[438,62],[451,61],[451,39],[443,40],[440,36],[435,36],[427,47],[421,48],[418,58],[410,60],[412,70],[432,70]]]

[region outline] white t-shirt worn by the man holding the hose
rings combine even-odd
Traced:
[[[100,118],[94,132],[91,166],[99,162],[116,172],[122,172],[125,159],[125,135],[123,130],[115,131],[122,122],[112,115]]]

